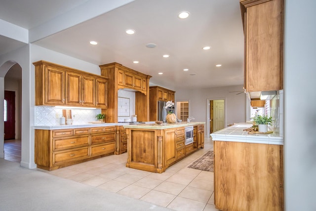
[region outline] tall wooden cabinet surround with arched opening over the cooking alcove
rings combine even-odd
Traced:
[[[118,122],[118,89],[133,89],[135,91],[135,114],[138,121],[149,121],[149,79],[151,76],[142,74],[116,62],[100,65],[101,75],[108,80],[107,121]]]

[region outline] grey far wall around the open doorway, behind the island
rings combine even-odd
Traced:
[[[175,101],[190,100],[190,116],[195,118],[195,122],[206,123],[206,99],[225,99],[226,125],[229,125],[245,122],[245,94],[236,94],[236,92],[230,93],[230,91],[238,90],[242,90],[242,85],[175,90]]]

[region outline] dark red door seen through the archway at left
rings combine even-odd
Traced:
[[[15,139],[15,92],[4,91],[4,140]]]

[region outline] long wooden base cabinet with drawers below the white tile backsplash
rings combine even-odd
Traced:
[[[53,170],[114,154],[116,127],[35,130],[37,168]]]

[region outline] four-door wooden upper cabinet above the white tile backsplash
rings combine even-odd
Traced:
[[[35,65],[35,104],[107,108],[107,78],[38,61]]]

